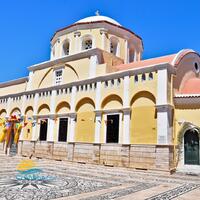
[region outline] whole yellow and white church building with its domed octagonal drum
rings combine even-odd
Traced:
[[[18,153],[138,169],[198,168],[199,54],[185,49],[142,60],[142,53],[142,39],[108,17],[58,30],[50,60],[0,84],[0,118],[23,119]]]

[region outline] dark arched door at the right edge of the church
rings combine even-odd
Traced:
[[[184,135],[184,160],[186,165],[199,165],[199,136],[196,130]]]

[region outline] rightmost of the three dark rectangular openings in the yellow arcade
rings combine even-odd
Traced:
[[[119,114],[107,115],[106,143],[119,142]]]

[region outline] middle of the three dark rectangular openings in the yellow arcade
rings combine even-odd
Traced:
[[[60,118],[59,133],[58,133],[59,142],[67,141],[67,128],[68,128],[68,118]]]

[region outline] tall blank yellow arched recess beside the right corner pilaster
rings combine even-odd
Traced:
[[[156,99],[147,91],[136,93],[131,101],[131,143],[132,144],[156,144],[157,143],[157,119]]]

